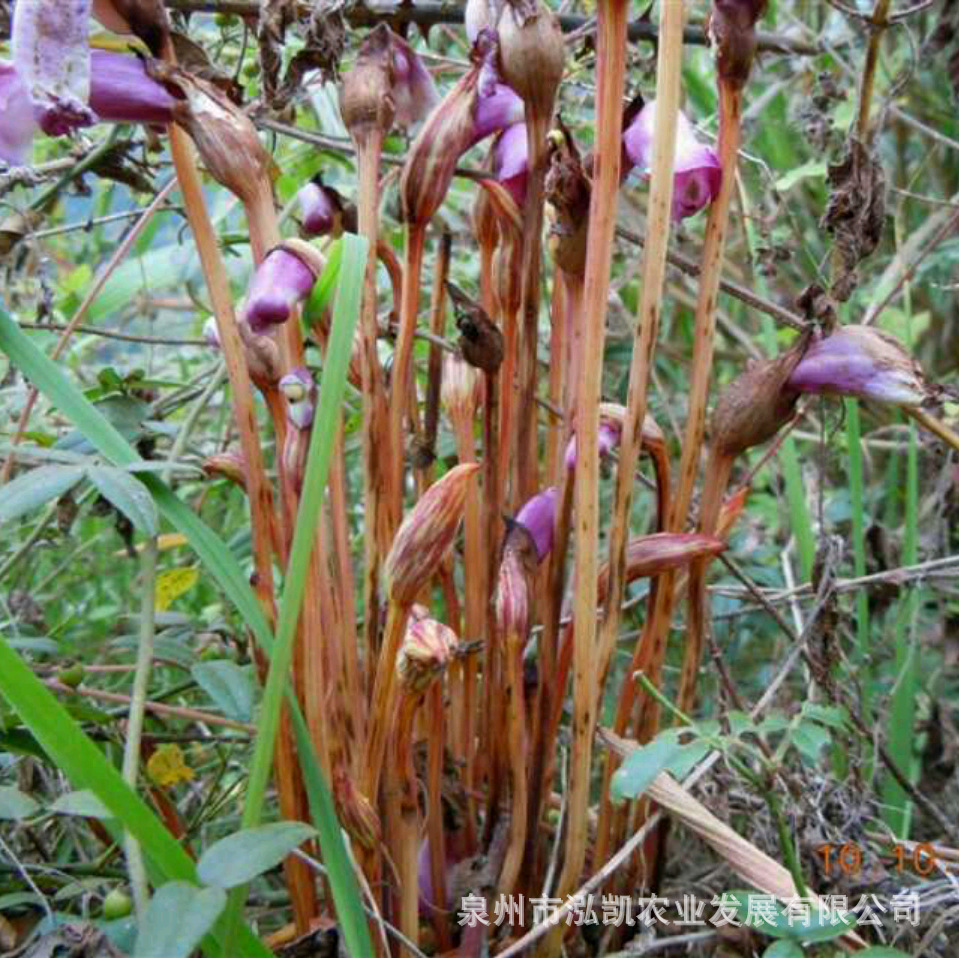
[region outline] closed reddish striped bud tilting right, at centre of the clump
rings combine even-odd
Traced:
[[[454,466],[423,493],[403,520],[384,567],[391,601],[411,604],[436,574],[456,539],[469,482],[478,469],[476,463]]]

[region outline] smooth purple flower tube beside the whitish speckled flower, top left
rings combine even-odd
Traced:
[[[90,106],[99,119],[108,123],[173,121],[176,97],[147,75],[139,57],[93,50],[91,62]]]

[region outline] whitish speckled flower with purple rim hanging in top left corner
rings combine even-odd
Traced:
[[[61,136],[96,122],[90,98],[91,0],[19,0],[13,9],[13,63],[44,133]]]

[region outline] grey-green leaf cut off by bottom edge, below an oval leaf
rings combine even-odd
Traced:
[[[133,958],[190,958],[225,905],[222,888],[167,882],[150,899]]]

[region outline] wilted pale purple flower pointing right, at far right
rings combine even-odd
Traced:
[[[922,367],[888,333],[872,326],[841,326],[814,340],[789,387],[875,399],[893,406],[919,406],[930,395]]]

